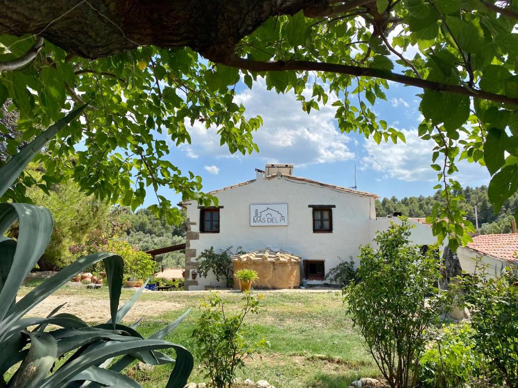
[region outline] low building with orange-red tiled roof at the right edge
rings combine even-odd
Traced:
[[[518,265],[518,233],[481,234],[473,236],[473,241],[457,249],[462,270],[468,274],[475,271],[474,258],[480,258],[488,265],[487,275],[499,275],[503,268]]]

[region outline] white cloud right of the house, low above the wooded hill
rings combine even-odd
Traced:
[[[431,169],[431,155],[435,143],[422,140],[416,129],[399,129],[404,133],[406,143],[376,144],[372,139],[365,141],[367,156],[362,158],[362,168],[370,168],[383,174],[383,178],[400,181],[437,180],[437,171]],[[490,175],[485,167],[466,160],[457,162],[458,173],[454,178],[462,185],[487,185]]]

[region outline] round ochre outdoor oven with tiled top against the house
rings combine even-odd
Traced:
[[[298,288],[300,286],[300,257],[270,248],[232,256],[234,275],[239,270],[257,271],[258,280],[252,285],[256,289]],[[234,288],[239,282],[234,276]]]

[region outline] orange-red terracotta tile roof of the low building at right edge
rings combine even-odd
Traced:
[[[467,247],[483,255],[493,256],[500,260],[518,261],[518,233],[481,234],[473,236]]]

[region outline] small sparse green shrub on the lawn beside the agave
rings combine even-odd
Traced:
[[[231,388],[236,368],[241,368],[244,360],[266,345],[264,338],[257,342],[247,339],[243,323],[248,314],[259,312],[262,296],[244,294],[243,307],[234,313],[225,309],[228,301],[221,299],[218,293],[212,293],[202,302],[202,316],[193,337],[202,366],[214,388]]]

